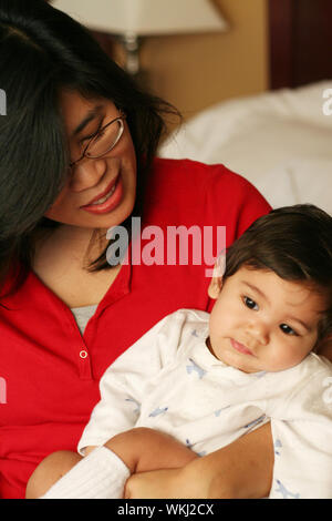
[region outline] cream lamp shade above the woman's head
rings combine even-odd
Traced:
[[[225,31],[210,0],[53,0],[84,25],[113,34],[174,34]]]

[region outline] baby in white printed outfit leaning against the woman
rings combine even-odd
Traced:
[[[270,498],[332,498],[332,365],[314,353],[332,333],[332,217],[274,210],[221,265],[211,314],[177,310],[127,349],[101,379],[84,457],[45,458],[27,498],[122,498],[131,474],[185,466],[267,421]]]

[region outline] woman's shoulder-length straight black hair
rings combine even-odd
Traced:
[[[163,115],[179,113],[143,92],[83,25],[44,0],[0,0],[0,89],[7,96],[7,115],[0,115],[0,290],[15,273],[11,294],[31,268],[37,232],[59,226],[43,215],[70,162],[60,91],[108,99],[126,113],[137,157],[135,215],[166,131]],[[91,270],[112,267],[105,253]]]

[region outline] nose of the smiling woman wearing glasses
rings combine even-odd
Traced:
[[[83,192],[97,185],[107,171],[104,157],[83,157],[80,163],[72,166],[70,188],[73,192]]]

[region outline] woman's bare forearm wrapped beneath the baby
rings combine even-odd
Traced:
[[[132,476],[125,498],[235,498],[269,494],[273,471],[270,423],[180,469]]]

